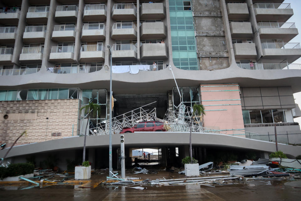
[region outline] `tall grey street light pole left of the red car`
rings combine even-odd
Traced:
[[[110,52],[110,58],[111,58],[111,67],[110,67],[110,117],[109,117],[109,135],[110,135],[110,143],[109,143],[109,177],[112,177],[112,52],[111,52],[111,46],[107,45],[109,52]]]

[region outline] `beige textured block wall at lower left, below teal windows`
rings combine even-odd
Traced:
[[[21,137],[17,144],[72,136],[72,125],[73,135],[77,135],[78,99],[1,101],[0,108],[0,139],[7,146],[25,130],[27,137]]]

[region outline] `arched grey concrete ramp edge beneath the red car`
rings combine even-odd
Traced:
[[[145,140],[147,139],[147,140]],[[7,157],[37,154],[42,152],[60,151],[66,149],[80,149],[83,147],[83,137],[69,137],[49,140],[40,143],[25,144],[13,147]],[[193,146],[229,148],[240,150],[256,150],[275,152],[276,145],[273,142],[241,138],[236,136],[214,133],[192,133]],[[137,132],[124,134],[125,147],[163,147],[180,146],[189,144],[189,133],[177,132]],[[108,148],[109,135],[87,136],[87,148]],[[120,135],[112,136],[114,148],[120,147]],[[0,158],[3,158],[9,148],[0,150]],[[301,153],[301,146],[278,144],[278,149],[289,156]]]

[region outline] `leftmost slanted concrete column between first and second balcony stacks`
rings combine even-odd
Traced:
[[[12,63],[16,65],[20,65],[19,63],[19,57],[22,51],[23,47],[23,33],[25,30],[26,26],[26,14],[28,11],[29,7],[29,0],[23,0],[21,4],[21,10],[20,10],[20,18],[18,21],[18,27],[16,31],[16,40],[15,40],[15,45],[13,47],[13,58],[12,58]],[[17,68],[17,66],[14,65],[13,68]]]

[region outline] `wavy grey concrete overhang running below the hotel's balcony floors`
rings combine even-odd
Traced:
[[[293,93],[301,91],[301,70],[246,70],[232,65],[220,70],[182,70],[172,67],[178,86],[198,86],[202,83],[239,83],[240,87],[292,86]],[[109,88],[110,73],[104,69],[93,73],[55,74],[41,69],[38,73],[2,76],[0,89]],[[138,74],[113,73],[115,94],[166,93],[175,86],[169,68],[142,71]]]

